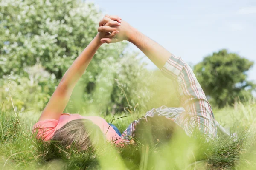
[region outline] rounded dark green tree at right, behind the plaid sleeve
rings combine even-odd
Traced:
[[[247,80],[247,71],[252,66],[252,61],[222,49],[205,57],[194,71],[206,95],[222,108],[252,97],[256,85]]]

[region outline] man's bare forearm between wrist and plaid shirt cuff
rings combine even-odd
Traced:
[[[135,28],[131,28],[128,41],[136,45],[160,69],[172,55],[160,44],[151,40]]]

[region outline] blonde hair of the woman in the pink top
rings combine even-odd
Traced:
[[[105,136],[92,121],[76,119],[58,129],[51,140],[60,142],[64,147],[74,146],[79,150],[86,150],[88,147],[99,147],[105,142]]]

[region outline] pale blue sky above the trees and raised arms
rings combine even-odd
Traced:
[[[256,0],[89,1],[103,14],[119,15],[189,64],[223,48],[254,61],[248,75],[256,82]],[[148,68],[156,68],[144,60]]]

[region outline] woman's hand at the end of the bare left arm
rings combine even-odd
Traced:
[[[118,26],[121,26],[122,19],[115,15],[106,15],[100,22],[98,28],[99,41],[104,38],[115,38],[119,34]],[[103,31],[104,30],[104,31]],[[102,42],[102,41],[101,41]],[[105,43],[105,42],[102,42]]]

